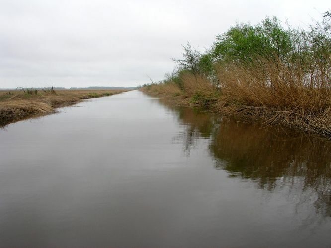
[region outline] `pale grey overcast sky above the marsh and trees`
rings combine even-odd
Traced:
[[[137,86],[172,71],[187,41],[204,51],[236,22],[297,27],[328,0],[0,0],[0,88]]]

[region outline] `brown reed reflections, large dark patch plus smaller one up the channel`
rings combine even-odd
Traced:
[[[188,126],[186,131],[210,137],[211,153],[221,161],[218,165],[231,174],[258,179],[263,187],[283,176],[304,176],[307,186],[315,185],[320,176],[330,182],[331,142],[328,140],[281,127],[220,118],[192,108],[169,108]]]

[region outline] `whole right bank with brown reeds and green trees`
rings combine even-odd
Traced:
[[[331,136],[331,15],[310,30],[276,18],[237,24],[205,53],[184,46],[177,70],[141,90],[176,104]]]

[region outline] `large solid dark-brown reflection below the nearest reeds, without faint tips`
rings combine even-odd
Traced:
[[[210,146],[224,169],[259,179],[261,186],[282,176],[305,176],[312,185],[320,175],[331,178],[331,144],[278,128],[224,121]]]

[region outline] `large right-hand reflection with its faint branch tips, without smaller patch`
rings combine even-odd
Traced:
[[[210,145],[216,167],[230,176],[256,182],[259,188],[286,186],[301,204],[313,200],[316,210],[331,216],[331,144],[281,128],[223,119]]]

